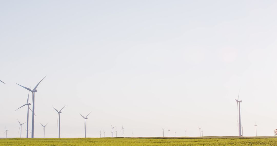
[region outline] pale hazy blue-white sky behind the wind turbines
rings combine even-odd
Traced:
[[[0,130],[35,138],[273,136],[276,1],[0,1]],[[17,83],[17,84],[16,84]],[[29,100],[30,101],[30,100]],[[32,104],[32,103],[31,103]],[[31,105],[32,106],[32,105]],[[29,121],[31,121],[31,116]],[[31,122],[29,123],[31,127]],[[22,126],[25,137],[26,124]],[[0,131],[1,132],[1,131]],[[116,134],[115,134],[116,135]],[[0,138],[6,135],[0,134]]]

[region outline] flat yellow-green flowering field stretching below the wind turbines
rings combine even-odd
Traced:
[[[161,139],[161,138],[62,138],[62,139],[0,139],[0,145],[277,145],[276,138],[208,138],[208,139]]]

